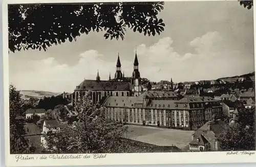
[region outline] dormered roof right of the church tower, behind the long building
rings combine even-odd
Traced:
[[[173,91],[150,90],[141,94],[141,96],[148,98],[178,98]]]

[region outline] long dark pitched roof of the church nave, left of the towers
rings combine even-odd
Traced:
[[[123,90],[130,91],[129,82],[84,80],[75,90]]]

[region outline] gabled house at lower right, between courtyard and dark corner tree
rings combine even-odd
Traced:
[[[214,116],[213,116],[214,117]],[[192,135],[189,143],[190,151],[219,151],[217,136],[229,129],[229,126],[221,120],[207,122]]]

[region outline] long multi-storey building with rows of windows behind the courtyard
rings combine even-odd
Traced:
[[[189,97],[181,100],[154,100],[139,97],[108,97],[105,116],[113,121],[144,126],[196,130],[212,115],[222,116],[222,105],[209,97]]]

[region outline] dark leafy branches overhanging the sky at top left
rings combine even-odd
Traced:
[[[104,31],[105,39],[124,39],[126,28],[160,34],[163,2],[8,5],[9,50],[44,49],[81,34]]]

